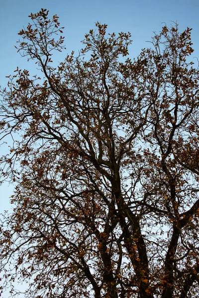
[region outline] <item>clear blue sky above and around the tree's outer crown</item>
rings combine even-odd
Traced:
[[[64,26],[66,50],[57,56],[57,61],[64,60],[67,54],[81,49],[80,41],[95,23],[106,23],[109,33],[131,32],[133,43],[130,58],[136,58],[144,47],[150,44],[153,32],[159,32],[164,25],[178,22],[180,31],[193,28],[192,40],[194,57],[199,58],[199,0],[0,0],[0,85],[5,87],[5,75],[13,74],[18,66],[34,74],[35,65],[20,57],[14,46],[19,36],[17,33],[29,22],[30,12],[47,8],[50,16],[57,14],[61,26]],[[0,155],[6,154],[5,147],[0,148]],[[10,210],[9,196],[13,186],[4,184],[0,187],[0,213]],[[9,297],[8,291],[3,298]]]

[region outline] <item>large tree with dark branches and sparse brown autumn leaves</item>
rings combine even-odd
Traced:
[[[97,23],[55,68],[58,17],[30,18],[18,51],[42,78],[17,68],[1,90],[1,136],[13,140],[1,177],[16,185],[1,224],[5,283],[29,281],[34,298],[198,297],[191,29],[165,25],[131,60],[130,33]]]

